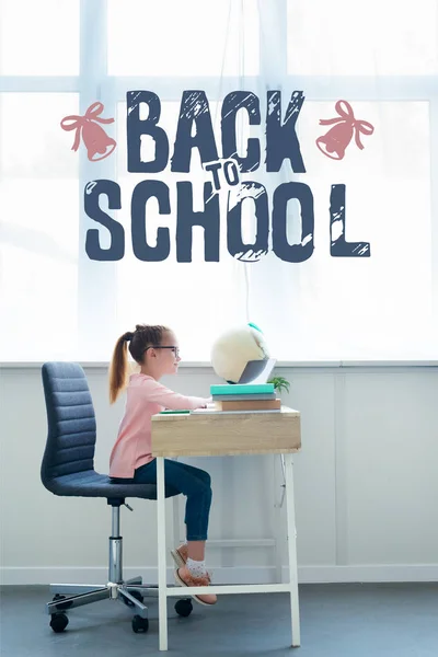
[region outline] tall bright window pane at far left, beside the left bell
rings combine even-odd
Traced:
[[[2,358],[77,350],[78,159],[69,157],[59,116],[78,95],[0,94]]]

